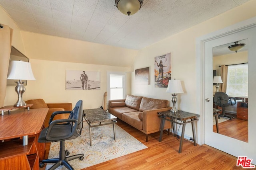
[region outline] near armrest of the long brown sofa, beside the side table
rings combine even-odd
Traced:
[[[152,109],[152,110],[143,111],[142,112],[143,131],[145,131],[146,134],[160,131],[161,119],[159,118],[159,115],[157,113],[160,111],[168,111],[170,109],[172,109],[172,107],[165,107],[161,109]],[[164,129],[170,129],[170,128],[171,128],[170,122],[166,121],[164,124]]]

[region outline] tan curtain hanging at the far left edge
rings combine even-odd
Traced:
[[[0,107],[4,106],[7,73],[12,47],[12,31],[8,25],[0,24]]]

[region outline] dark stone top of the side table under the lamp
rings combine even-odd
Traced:
[[[164,116],[164,117],[170,117],[170,118],[173,118],[173,119],[178,119],[180,121],[200,117],[200,115],[198,115],[198,114],[189,113],[189,112],[186,112],[186,111],[181,111],[181,112],[178,112],[178,113],[171,113],[171,111],[161,111],[161,112],[158,112],[158,115]]]

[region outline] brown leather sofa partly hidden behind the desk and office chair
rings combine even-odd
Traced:
[[[73,109],[72,103],[48,103],[48,104],[46,104],[43,99],[27,100],[25,103],[33,104],[33,106],[31,106],[30,109],[49,108],[48,113],[46,115],[46,119],[44,121],[44,127],[48,127],[50,117],[54,111],[64,111],[64,110],[71,111]],[[68,113],[56,115],[54,117],[54,120],[66,119],[66,118],[68,118],[68,115],[69,115]]]

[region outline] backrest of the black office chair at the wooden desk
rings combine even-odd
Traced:
[[[78,125],[76,127],[78,134],[74,134],[75,136],[81,135],[82,127],[83,127],[83,101],[79,100],[76,102],[76,106],[71,111],[69,119],[76,119],[78,121]]]

